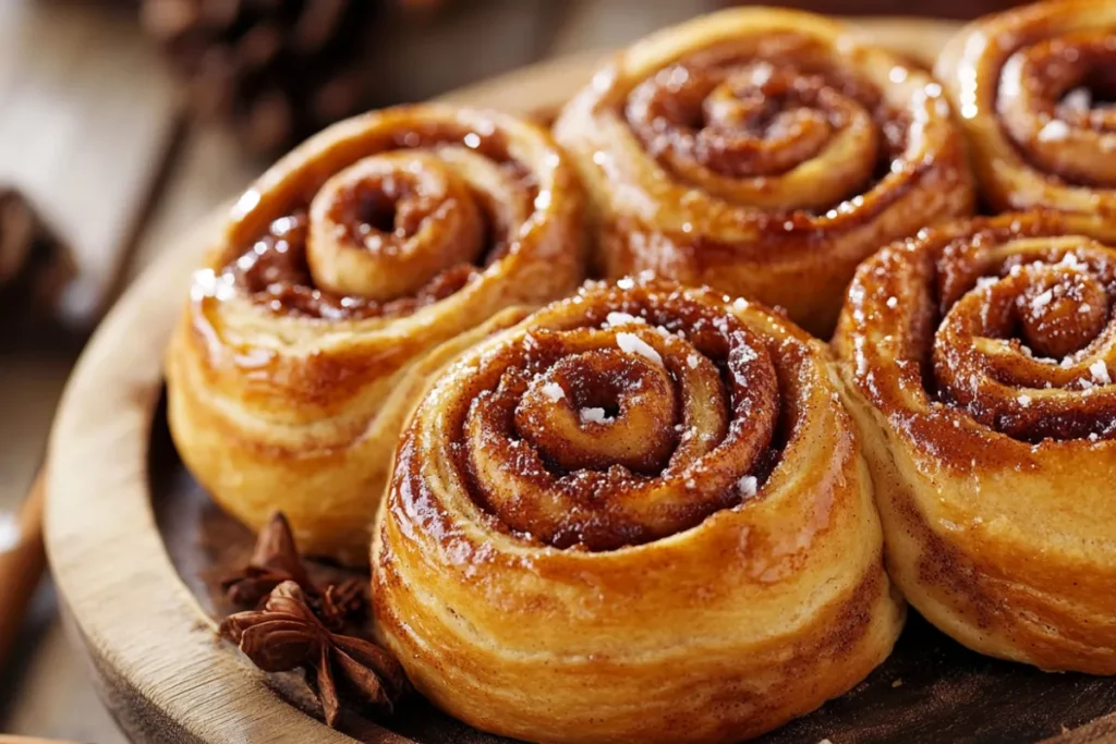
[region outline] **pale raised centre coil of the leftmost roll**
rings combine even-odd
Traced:
[[[389,301],[475,260],[484,225],[468,182],[442,160],[384,153],[337,173],[315,195],[306,259],[323,289]]]

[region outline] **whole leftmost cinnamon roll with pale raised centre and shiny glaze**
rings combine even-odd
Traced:
[[[167,355],[186,465],[247,524],[281,509],[304,551],[366,561],[417,388],[501,310],[574,290],[583,201],[549,135],[500,114],[401,107],[307,142],[194,278]]]

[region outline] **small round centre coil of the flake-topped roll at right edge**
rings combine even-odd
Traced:
[[[1027,286],[1016,299],[1023,341],[1054,359],[1078,351],[1108,322],[1108,296],[1096,277],[1049,264],[1028,265]]]

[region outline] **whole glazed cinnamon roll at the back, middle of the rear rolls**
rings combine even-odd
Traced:
[[[709,284],[815,334],[862,259],[972,213],[941,87],[800,11],[728,10],[651,36],[555,132],[594,196],[605,276]]]

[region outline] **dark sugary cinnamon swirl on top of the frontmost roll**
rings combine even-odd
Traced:
[[[750,330],[713,296],[694,297],[662,286],[589,290],[576,312],[488,350],[459,380],[448,404],[454,466],[491,529],[558,548],[613,550],[762,496],[796,417],[809,415],[781,399],[779,380],[809,360],[795,344]],[[647,339],[662,365],[623,352],[620,334]],[[694,378],[713,394],[698,397]],[[723,426],[690,426],[696,419],[685,409],[694,405],[713,406],[705,413]],[[561,408],[577,417],[567,433],[555,423]],[[581,419],[586,408],[603,409],[608,421]],[[635,443],[625,456],[602,458],[596,445],[624,436]],[[400,462],[417,460],[413,447],[406,437]]]

